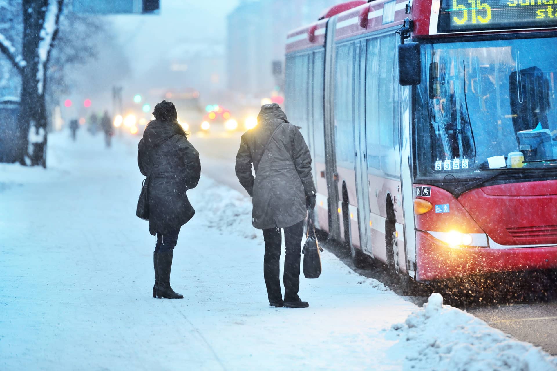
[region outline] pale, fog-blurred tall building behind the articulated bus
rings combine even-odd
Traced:
[[[317,21],[338,0],[242,0],[227,19],[227,87],[230,91],[265,97],[275,85],[272,62],[284,71],[286,35]]]

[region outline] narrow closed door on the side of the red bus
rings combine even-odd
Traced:
[[[365,58],[366,42],[360,41],[356,53],[356,64],[359,68],[358,83],[355,86],[358,98],[356,99],[356,109],[354,112],[354,138],[355,138],[355,172],[356,172],[356,196],[358,197],[358,227],[360,235],[360,247],[362,251],[373,256],[372,236],[369,227],[369,180],[367,162],[367,142],[365,128]],[[352,231],[353,235],[356,231]]]

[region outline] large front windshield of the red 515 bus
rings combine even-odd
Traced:
[[[418,177],[471,177],[557,163],[555,38],[422,45],[416,90]],[[509,164],[511,159],[509,159]]]

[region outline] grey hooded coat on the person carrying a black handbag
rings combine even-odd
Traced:
[[[236,175],[253,197],[253,227],[260,230],[291,227],[305,219],[306,196],[315,194],[311,155],[300,128],[288,122],[278,104],[264,105],[257,123],[242,135]]]

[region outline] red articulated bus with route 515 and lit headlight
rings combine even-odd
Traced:
[[[557,0],[375,0],[286,46],[316,224],[403,282],[557,268]]]

